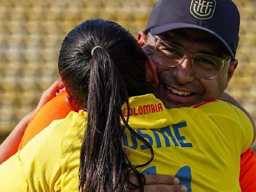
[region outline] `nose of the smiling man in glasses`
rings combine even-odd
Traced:
[[[191,62],[191,57],[186,56],[180,64],[173,68],[173,76],[180,84],[192,82],[196,78]]]

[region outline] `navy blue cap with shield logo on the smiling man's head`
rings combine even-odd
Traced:
[[[181,28],[203,30],[219,39],[234,58],[239,22],[238,9],[231,0],[159,0],[144,31],[160,34]]]

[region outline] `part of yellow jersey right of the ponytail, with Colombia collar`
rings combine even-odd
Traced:
[[[130,98],[129,105],[129,125],[154,152],[139,171],[174,175],[188,192],[240,191],[240,154],[253,137],[251,122],[240,109],[220,100],[165,109],[153,95]],[[130,132],[123,143],[130,149],[131,164],[150,159],[147,146]]]

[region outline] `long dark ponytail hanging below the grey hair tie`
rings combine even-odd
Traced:
[[[105,49],[94,50],[90,65],[87,125],[80,153],[80,164],[84,166],[79,169],[79,189],[117,191],[119,186],[127,188],[128,172],[122,171],[126,162],[120,116],[123,97],[127,100],[128,95]]]

